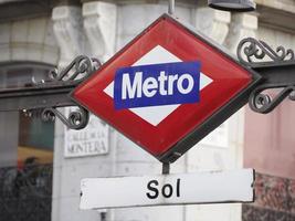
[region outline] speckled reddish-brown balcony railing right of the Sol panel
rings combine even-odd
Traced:
[[[295,180],[257,173],[255,203],[243,206],[243,221],[294,221]]]

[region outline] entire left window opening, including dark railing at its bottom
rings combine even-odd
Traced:
[[[28,112],[17,107],[27,102],[27,91],[21,90],[33,91],[35,82],[46,80],[52,69],[40,63],[0,64],[0,217],[3,220],[51,220],[54,123],[41,120],[42,109]],[[33,102],[41,98],[42,91],[27,105],[33,108]]]

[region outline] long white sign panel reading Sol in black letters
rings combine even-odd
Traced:
[[[254,170],[86,178],[80,209],[252,202]]]

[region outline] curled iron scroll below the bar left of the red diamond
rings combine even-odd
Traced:
[[[56,108],[49,107],[44,108],[41,115],[44,122],[53,122],[55,117],[62,120],[70,129],[83,129],[88,124],[89,113],[85,108],[77,106],[77,109],[72,110],[66,117]]]

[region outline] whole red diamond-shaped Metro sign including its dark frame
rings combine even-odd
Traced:
[[[172,162],[242,107],[259,78],[164,14],[72,97],[160,161]]]

